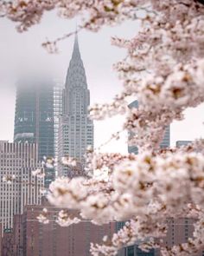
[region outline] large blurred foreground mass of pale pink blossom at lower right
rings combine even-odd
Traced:
[[[203,145],[203,141],[201,143]],[[145,249],[150,246],[147,237],[155,238],[151,246],[156,247],[157,239],[166,235],[169,218],[188,216],[201,221],[204,158],[203,154],[194,152],[193,147],[174,152],[167,150],[163,154],[148,151],[135,158],[116,161],[108,180],[97,180],[94,175],[88,180],[82,177],[58,179],[51,184],[48,199],[57,207],[80,210],[81,218],[94,224],[131,220],[113,236],[111,243],[92,245],[93,255],[101,255],[101,252],[116,255],[118,249],[135,240],[142,241]],[[189,242],[194,246],[192,250],[188,248],[188,252],[194,252],[198,239],[201,240],[201,236]],[[165,250],[163,248],[163,255],[174,255],[165,254]]]

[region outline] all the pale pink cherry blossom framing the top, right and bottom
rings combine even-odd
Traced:
[[[48,200],[65,210],[59,213],[62,226],[77,223],[67,211],[80,211],[80,218],[95,224],[126,221],[112,240],[91,245],[94,256],[116,255],[118,249],[136,240],[147,251],[161,246],[169,218],[192,217],[194,238],[163,255],[193,255],[204,248],[204,142],[184,148],[159,149],[163,133],[183,111],[204,102],[204,4],[200,0],[0,0],[0,16],[18,23],[18,30],[41,21],[45,11],[57,9],[60,16],[81,17],[79,30],[98,31],[127,19],[139,20],[141,29],[131,40],[112,38],[127,55],[114,69],[124,84],[111,104],[95,104],[92,119],[126,116],[124,129],[139,154],[102,154],[88,150],[86,177],[58,178],[50,186]],[[141,15],[142,13],[142,15]],[[68,33],[71,36],[73,33]],[[43,46],[56,50],[56,43]],[[138,108],[128,108],[130,97]],[[118,135],[113,136],[118,138]],[[45,160],[54,165],[54,160]],[[74,166],[75,160],[63,159]],[[35,174],[41,174],[36,170]],[[8,180],[8,179],[7,179]],[[10,181],[10,179],[9,179]],[[44,211],[40,220],[47,221]]]

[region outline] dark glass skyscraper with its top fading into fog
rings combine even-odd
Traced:
[[[27,78],[16,87],[14,142],[36,143],[38,158],[54,157],[54,82]],[[54,180],[46,170],[45,186]]]

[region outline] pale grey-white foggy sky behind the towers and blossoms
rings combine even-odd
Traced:
[[[0,19],[0,140],[13,140],[15,113],[15,85],[23,75],[33,72],[46,73],[56,82],[64,84],[68,63],[73,51],[73,37],[59,43],[60,53],[50,55],[42,49],[45,38],[54,39],[75,30],[75,20],[61,19],[54,12],[48,13],[40,25],[19,34],[15,23]],[[86,69],[91,104],[111,101],[122,89],[112,64],[125,56],[124,49],[111,45],[111,36],[131,38],[139,24],[127,22],[114,28],[105,28],[99,33],[80,32],[80,53]],[[204,137],[204,104],[186,111],[185,121],[171,125],[171,144],[178,140],[194,140]],[[112,133],[121,129],[122,117],[113,120],[95,121],[95,146],[107,141]],[[126,152],[125,134],[121,141],[112,142],[104,151]]]

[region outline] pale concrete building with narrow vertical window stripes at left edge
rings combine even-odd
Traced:
[[[2,233],[13,227],[13,216],[22,213],[25,205],[41,203],[40,188],[44,181],[32,175],[39,165],[35,144],[0,141]]]

